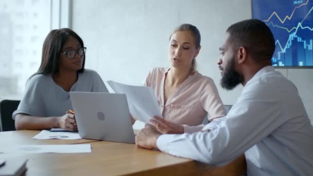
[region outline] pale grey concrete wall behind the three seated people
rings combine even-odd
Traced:
[[[88,48],[86,68],[95,69],[105,81],[141,84],[152,67],[169,66],[172,30],[182,23],[197,26],[202,37],[198,71],[214,79],[224,104],[233,104],[242,87],[221,89],[218,47],[229,25],[250,18],[248,0],[73,1],[73,29]],[[297,85],[313,124],[313,69],[279,71]]]

